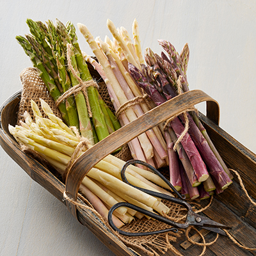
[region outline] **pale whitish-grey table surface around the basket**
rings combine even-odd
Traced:
[[[138,20],[142,48],[160,54],[157,39],[177,51],[188,42],[188,81],[220,103],[220,126],[256,152],[256,2],[214,1],[1,1],[0,104],[20,90],[20,72],[31,62],[16,42],[29,33],[26,19],[71,20],[93,36],[111,36],[106,20],[132,33]],[[83,51],[92,54],[77,31]],[[198,106],[204,112],[205,106]],[[114,255],[54,196],[0,148],[0,255]]]

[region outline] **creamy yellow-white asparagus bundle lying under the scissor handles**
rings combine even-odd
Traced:
[[[25,112],[25,122],[20,121],[20,125],[15,127],[9,125],[9,131],[21,145],[35,150],[51,163],[58,172],[65,173],[81,137],[76,136],[76,132],[74,133],[60,118],[56,117],[44,100],[40,100],[40,102],[45,115],[49,118],[43,118],[38,106],[31,100],[35,122],[33,122],[29,113]],[[88,148],[92,147],[90,141],[87,141],[86,146]],[[86,148],[81,149],[80,154],[83,154]],[[124,161],[115,156],[105,157],[84,177],[80,188],[81,193],[86,196],[104,218],[108,216],[109,207],[117,202],[130,202],[148,211],[168,214],[170,209],[161,200],[122,182],[120,170],[124,164]],[[129,166],[126,177],[134,186],[172,196],[172,193],[168,191],[170,188],[152,172],[142,170],[136,166]],[[143,214],[120,207],[116,209],[113,220],[116,227],[122,227],[122,225],[134,220],[134,216],[142,218]]]

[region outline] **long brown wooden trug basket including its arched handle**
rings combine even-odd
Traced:
[[[136,248],[125,246],[118,237],[116,237],[102,222],[93,214],[92,211],[86,210],[67,200],[63,201],[63,193],[66,191],[71,198],[77,198],[77,201],[84,204],[83,200],[77,196],[79,185],[86,173],[101,159],[119,148],[121,145],[132,140],[139,134],[147,131],[173,115],[179,114],[195,104],[207,102],[207,116],[199,113],[200,120],[204,124],[212,142],[220,153],[221,157],[227,164],[228,168],[237,170],[243,179],[243,184],[253,200],[256,198],[256,155],[245,148],[241,143],[236,141],[232,136],[227,134],[218,126],[219,107],[218,103],[209,95],[200,91],[193,90],[183,93],[172,100],[168,100],[161,106],[158,106],[131,124],[125,125],[118,131],[109,135],[92,148],[86,151],[72,165],[67,175],[66,184],[52,175],[42,164],[33,157],[24,154],[20,150],[19,144],[14,140],[8,131],[8,124],[17,124],[17,112],[21,91],[15,93],[7,99],[0,109],[0,144],[1,147],[28,173],[28,175],[47,189],[52,195],[56,196],[63,204],[67,205],[77,220],[89,228],[102,243],[104,243],[116,255],[145,255]],[[104,148],[104,150],[102,150]],[[212,205],[204,214],[214,221],[225,223],[232,227],[230,234],[236,237],[236,240],[249,248],[256,247],[256,207],[248,200],[241,186],[234,175],[233,184],[220,195],[214,195]],[[207,205],[208,200],[203,200],[202,205]],[[212,241],[216,234],[210,232],[206,239]],[[172,245],[183,255],[199,255],[202,252],[200,246],[191,246],[188,250],[180,247],[180,244],[186,240],[185,236],[177,239]],[[164,255],[175,255],[172,251]],[[248,251],[234,244],[228,237],[220,236],[216,243],[207,247],[206,255],[256,255],[254,251]]]

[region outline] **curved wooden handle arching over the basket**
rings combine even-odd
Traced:
[[[69,198],[77,200],[77,193],[82,180],[86,173],[89,172],[95,164],[99,163],[104,157],[111,154],[117,148],[137,137],[141,133],[152,129],[152,127],[161,124],[168,118],[178,115],[188,108],[192,108],[200,102],[207,102],[207,117],[215,124],[219,123],[220,108],[218,102],[201,90],[192,90],[168,100],[151,109],[144,115],[140,116],[130,124],[113,132],[107,138],[99,141],[92,148],[89,148],[72,164],[66,179],[66,194]],[[66,200],[68,211],[77,218],[76,205]]]

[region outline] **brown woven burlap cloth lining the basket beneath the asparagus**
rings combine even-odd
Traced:
[[[33,111],[31,109],[31,103],[30,103],[31,99],[33,99],[36,102],[36,104],[38,104],[38,106],[40,106],[39,99],[45,100],[45,102],[47,102],[47,104],[51,106],[51,109],[54,112],[54,115],[61,118],[60,111],[58,110],[58,108],[56,108],[55,102],[54,100],[52,100],[51,95],[49,95],[44,82],[38,76],[36,68],[29,67],[24,69],[20,73],[20,80],[22,82],[22,95],[20,99],[18,122],[19,120],[24,121],[24,117],[23,117],[24,111],[28,111],[28,113],[31,114],[31,117],[33,118]],[[109,98],[106,85],[103,82],[98,84],[99,84],[99,93],[102,99],[104,99],[104,101],[109,106],[111,111],[115,113],[115,109],[111,104],[111,100]],[[44,115],[43,111],[42,111],[42,114]],[[28,153],[33,154],[31,152],[28,152]],[[120,159],[123,159],[124,161],[127,161],[132,158],[131,152],[129,151],[129,147],[127,145],[124,145],[122,150],[118,152],[118,154],[116,154],[115,156],[119,157]],[[35,154],[35,157],[37,158],[37,160],[41,161],[41,163],[43,163],[47,168],[51,168],[49,164],[47,164],[44,161],[44,159],[40,159],[40,157],[37,157],[36,154]],[[51,169],[50,171],[52,171],[53,174],[56,175],[56,172],[54,172],[54,170]],[[60,176],[58,177],[61,179]],[[90,202],[88,202],[86,199],[85,199],[85,202],[88,205],[88,209],[92,209],[92,211],[95,211],[95,209],[93,209]],[[172,202],[165,202],[165,203],[171,209],[170,214],[168,214],[166,218],[170,218],[170,220],[182,223],[186,218],[186,209],[184,209],[184,207],[182,207],[181,205],[177,205]],[[198,209],[196,209],[196,207]],[[194,209],[196,210],[196,212],[203,210],[203,209],[200,209],[200,205],[196,205],[196,204],[194,204]],[[99,218],[101,218],[96,211],[95,211],[95,214]],[[104,221],[104,223],[109,227],[108,220],[102,220],[102,221]],[[127,232],[150,232],[150,231],[162,230],[166,228],[170,228],[170,226],[160,221],[152,220],[152,219],[147,220],[147,218],[143,218],[139,220],[136,218],[135,221],[132,221],[131,224],[129,225],[125,225],[122,229]],[[117,234],[115,231],[113,232],[127,246],[130,246],[131,248],[136,248],[137,250],[143,253],[146,253],[147,255],[159,255],[159,254],[163,254],[167,250],[172,250],[172,252],[175,253],[176,255],[182,255],[179,251],[175,249],[172,243],[175,243],[175,241],[177,240],[177,237],[180,237],[182,234],[184,234],[185,230],[179,231],[177,234],[173,232],[166,232],[163,234],[157,234],[152,236],[138,236],[138,237],[121,236],[120,234]],[[188,234],[186,235],[188,238]],[[204,237],[202,237],[202,239],[203,241],[205,241]],[[204,252],[205,252],[205,246],[201,255],[204,254]]]

